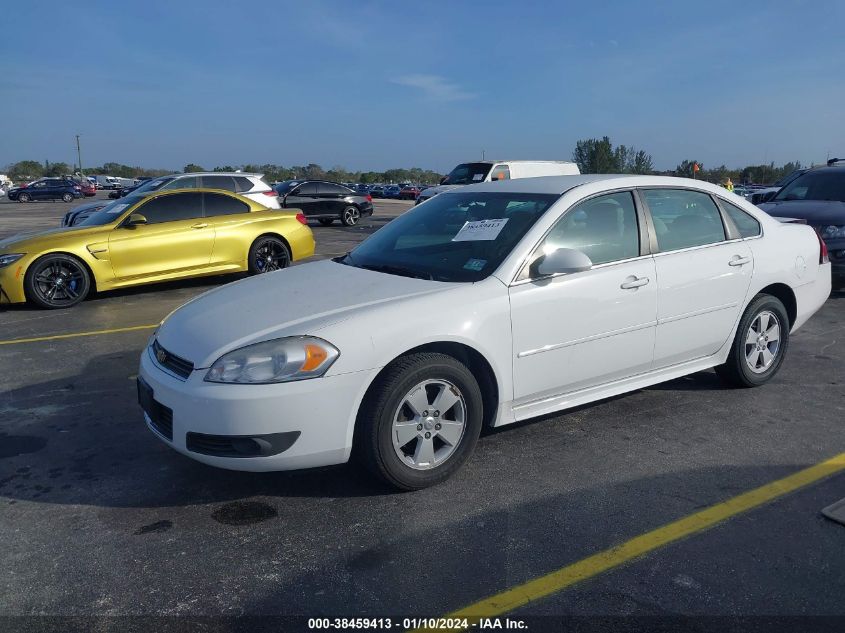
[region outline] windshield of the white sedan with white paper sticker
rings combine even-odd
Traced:
[[[558,197],[441,194],[399,216],[335,261],[406,277],[480,281],[499,267]]]

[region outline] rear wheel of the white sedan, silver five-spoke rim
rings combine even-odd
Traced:
[[[757,295],[739,321],[728,360],[716,367],[716,373],[735,387],[758,387],[768,382],[783,364],[789,328],[783,303],[771,295]]]

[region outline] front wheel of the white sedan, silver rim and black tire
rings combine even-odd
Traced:
[[[447,408],[432,410],[438,402]],[[361,403],[355,454],[394,488],[427,488],[472,454],[482,417],[481,389],[465,365],[445,354],[409,354],[388,365]]]

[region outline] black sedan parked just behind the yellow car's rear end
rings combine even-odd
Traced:
[[[328,226],[340,220],[353,226],[364,216],[373,214],[369,194],[352,191],[336,182],[325,180],[285,180],[273,187],[283,209],[301,209],[306,218]]]

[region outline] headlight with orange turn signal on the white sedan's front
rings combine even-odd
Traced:
[[[207,382],[267,384],[318,378],[340,356],[313,336],[293,336],[248,345],[224,354],[205,375]]]

